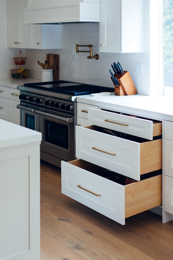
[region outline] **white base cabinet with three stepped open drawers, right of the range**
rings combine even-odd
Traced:
[[[157,122],[157,131],[153,131],[152,120],[97,110],[82,103],[78,104],[80,116],[81,108],[88,112],[83,112],[86,115],[83,119],[96,125],[76,126],[76,157],[80,159],[62,161],[62,193],[122,225],[125,218],[161,205],[162,122]],[[111,122],[105,122],[107,119]],[[149,130],[151,140],[144,139],[140,143],[109,134],[110,129],[120,131],[119,126],[123,127],[121,123],[126,120],[129,137],[135,126],[140,139]],[[107,123],[111,128],[104,133],[102,130]],[[115,176],[112,177],[118,176],[119,182],[99,176],[100,170],[113,171],[111,174]],[[150,177],[145,179],[147,173]],[[126,182],[129,178],[133,183]]]

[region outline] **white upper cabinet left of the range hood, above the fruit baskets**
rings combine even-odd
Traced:
[[[61,25],[23,24],[24,7],[27,0],[8,0],[8,47],[61,49]]]

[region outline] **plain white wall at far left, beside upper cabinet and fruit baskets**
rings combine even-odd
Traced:
[[[3,79],[11,77],[10,69],[16,69],[13,58],[18,57],[19,50],[7,48],[7,0],[0,1],[0,10],[0,78]]]

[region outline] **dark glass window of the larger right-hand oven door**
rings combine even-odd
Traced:
[[[68,126],[45,120],[45,141],[68,149]]]

